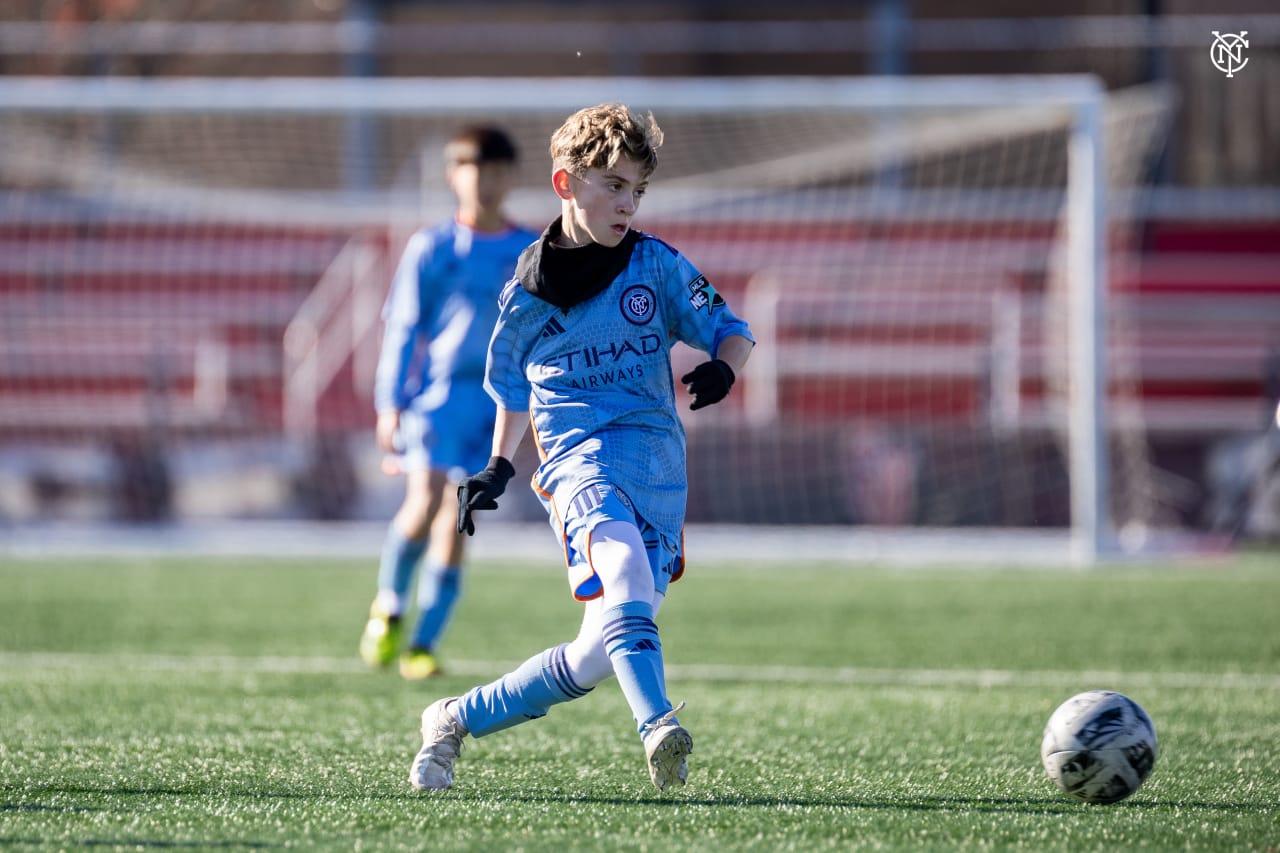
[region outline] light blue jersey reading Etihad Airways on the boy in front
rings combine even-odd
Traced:
[[[608,288],[562,310],[518,280],[502,293],[485,389],[503,409],[529,410],[541,459],[534,487],[553,524],[593,483],[609,483],[636,514],[678,542],[687,480],[671,347],[714,353],[750,338],[696,268],[660,240],[639,234]]]

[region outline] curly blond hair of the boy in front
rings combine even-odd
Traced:
[[[625,104],[598,104],[573,113],[552,134],[552,169],[581,178],[588,169],[612,169],[627,156],[648,178],[658,168],[662,128]]]

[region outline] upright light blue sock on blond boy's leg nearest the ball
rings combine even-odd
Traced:
[[[636,727],[644,730],[644,724],[671,711],[653,605],[622,602],[605,607],[603,619],[604,651],[613,662],[613,674],[631,706]]]

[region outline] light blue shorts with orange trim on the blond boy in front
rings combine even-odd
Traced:
[[[568,585],[573,598],[590,601],[604,594],[604,588],[589,558],[591,530],[603,521],[626,521],[639,528],[649,556],[655,592],[666,596],[672,581],[680,580],[685,574],[682,543],[663,537],[636,515],[631,498],[616,485],[591,483],[582,487],[564,508],[563,519],[557,516],[549,496],[539,493],[539,497],[550,516],[552,529],[564,547],[564,565],[568,569]]]

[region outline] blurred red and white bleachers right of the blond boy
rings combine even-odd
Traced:
[[[728,277],[763,345],[748,412],[1044,428],[1066,368],[1048,355],[1065,323],[1046,321],[1062,306],[1043,275],[987,256],[908,287],[895,275],[891,291],[874,283],[876,256],[849,247],[831,273]],[[1210,441],[1265,426],[1280,382],[1280,223],[1157,220],[1108,275],[1112,429]]]

